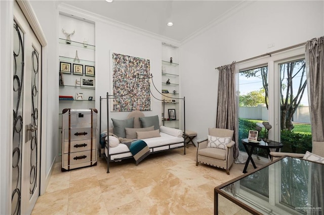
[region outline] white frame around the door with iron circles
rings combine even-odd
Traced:
[[[45,34],[39,24],[36,15],[28,1],[17,1],[19,7],[21,8],[24,16],[26,17],[28,23],[30,24],[32,30],[34,31],[37,39],[42,45],[42,85],[47,86],[47,40],[45,38]],[[13,20],[14,20],[14,1],[0,1],[0,26],[1,26],[1,34],[0,34],[0,65],[1,71],[10,71],[8,73],[2,72],[0,74],[0,99],[2,101],[8,100],[8,105],[2,105],[0,109],[0,120],[2,123],[0,124],[0,136],[1,136],[1,144],[0,149],[2,151],[2,155],[0,157],[0,213],[1,214],[10,214],[11,213],[11,187],[12,187],[12,110],[13,110]],[[46,92],[44,93],[44,89],[42,92],[42,124],[41,127],[41,143],[46,144],[46,116],[47,116],[47,98]],[[41,144],[41,158],[46,157],[46,145]],[[42,147],[43,146],[43,147]],[[46,164],[41,162],[41,179],[40,179],[40,188],[41,193],[45,192],[47,183],[46,180]],[[8,177],[10,176],[10,177]]]

